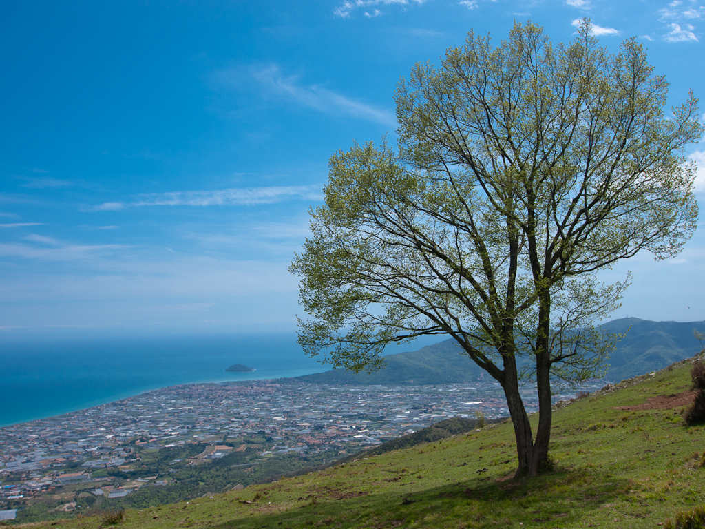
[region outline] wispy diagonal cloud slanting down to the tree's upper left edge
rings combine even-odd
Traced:
[[[293,99],[298,104],[329,114],[344,114],[396,128],[396,116],[386,109],[378,109],[355,99],[328,90],[319,85],[303,85],[298,75],[285,76],[272,65],[255,72],[255,79],[271,92]]]

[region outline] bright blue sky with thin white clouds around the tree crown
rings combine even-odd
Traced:
[[[396,140],[400,76],[471,28],[568,42],[583,16],[637,36],[673,104],[705,96],[699,1],[3,2],[0,336],[293,329],[328,159]],[[704,257],[699,231],[604,274],[635,275],[615,317],[704,320]]]

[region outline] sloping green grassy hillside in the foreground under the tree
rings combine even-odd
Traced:
[[[679,363],[557,405],[555,469],[535,480],[512,479],[512,427],[490,425],[297,478],[127,511],[120,526],[657,527],[675,511],[705,504],[705,426],[685,427],[683,406],[649,404],[659,397],[673,404],[665,397],[687,391],[689,367]],[[624,406],[638,408],[616,409]],[[100,517],[58,522],[101,524]]]

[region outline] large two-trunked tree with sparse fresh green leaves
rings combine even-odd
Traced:
[[[299,343],[334,367],[379,368],[384,346],[448,334],[501,384],[518,475],[548,457],[551,384],[599,374],[615,336],[593,323],[629,278],[596,273],[677,254],[696,228],[697,99],[664,114],[668,83],[642,46],[599,47],[584,20],[553,47],[530,21],[467,36],[396,92],[398,154],[354,145],[330,160],[324,205],[290,270]],[[534,379],[534,439],[519,393]]]

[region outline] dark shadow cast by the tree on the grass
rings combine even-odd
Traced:
[[[558,469],[533,480],[470,478],[406,492],[417,478],[391,490],[369,492],[350,487],[317,491],[286,511],[264,513],[252,504],[254,516],[215,528],[484,528],[523,523],[525,528],[550,528],[590,517],[604,504],[632,488],[628,479],[581,470]],[[361,484],[364,486],[364,484]],[[415,484],[416,485],[416,484]],[[356,495],[357,494],[357,495]],[[336,499],[339,498],[339,499]]]

